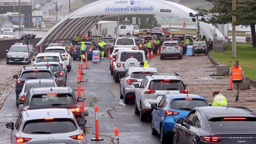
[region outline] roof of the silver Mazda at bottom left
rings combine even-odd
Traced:
[[[22,111],[23,121],[44,118],[74,118],[70,109],[34,109]]]

